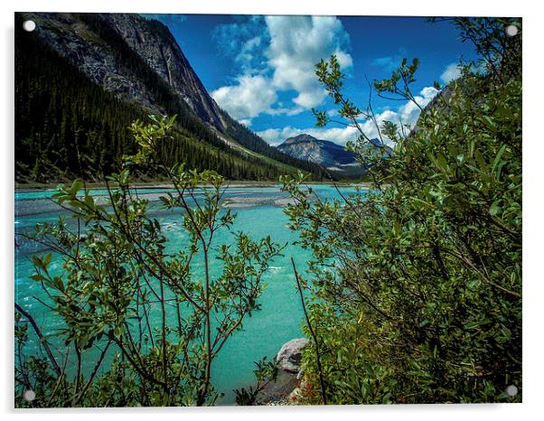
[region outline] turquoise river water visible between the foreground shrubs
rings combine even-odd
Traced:
[[[312,187],[321,199],[338,196],[338,192],[331,186]],[[355,192],[355,189],[342,188],[342,194],[350,192]],[[103,190],[93,191],[93,195],[96,196],[105,193]],[[138,190],[138,194],[145,195],[151,201],[157,200],[158,193],[156,189]],[[37,223],[54,222],[61,214],[68,215],[68,212],[61,211],[56,204],[47,199],[51,195],[51,191],[15,193],[16,233],[33,229]],[[219,402],[220,405],[233,403],[232,389],[254,383],[253,361],[265,356],[268,360],[273,359],[283,343],[302,335],[303,313],[295,289],[295,276],[290,258],[295,259],[297,267],[302,271],[310,254],[293,245],[297,236],[286,228],[288,220],[280,206],[285,205],[287,199],[287,194],[280,192],[277,187],[231,188],[225,194],[225,205],[232,208],[238,217],[230,231],[218,232],[218,245],[229,244],[232,232],[243,231],[252,239],[270,235],[277,243],[288,243],[288,246],[282,257],[275,258],[265,276],[268,286],[259,300],[262,310],[246,319],[243,330],[234,333],[214,360],[212,381],[217,390],[225,393],[225,397]],[[155,213],[155,218],[161,221],[167,237],[171,239],[170,247],[183,246],[187,235],[179,219],[160,211],[157,206],[152,207],[152,213]],[[29,278],[33,274],[30,257],[33,253],[42,253],[45,250],[20,238],[17,242],[19,247],[15,250],[15,301],[33,314],[45,334],[51,334],[59,321],[52,317],[50,310],[36,300],[36,297],[46,300],[46,295],[41,285]],[[58,265],[59,258],[53,257],[53,270]],[[198,267],[196,270],[198,272]],[[31,341],[28,352],[35,351],[36,346],[36,342]]]

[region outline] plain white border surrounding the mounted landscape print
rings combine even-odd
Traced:
[[[2,60],[0,61],[1,90],[0,156],[3,159],[0,168],[0,197],[4,199],[0,239],[3,252],[0,267],[4,269],[2,282],[2,298],[4,305],[2,330],[3,345],[0,346],[2,375],[0,399],[3,412],[11,418],[13,409],[13,297],[14,297],[14,12],[15,11],[50,11],[50,12],[132,12],[132,13],[185,13],[185,14],[366,14],[366,15],[502,15],[522,16],[523,24],[523,85],[524,85],[524,202],[523,202],[523,239],[524,239],[524,312],[523,312],[523,404],[519,405],[456,405],[456,406],[411,406],[411,407],[214,407],[214,408],[142,408],[142,409],[80,409],[80,410],[42,410],[19,412],[18,419],[53,419],[58,417],[79,419],[95,419],[98,413],[115,416],[118,419],[148,419],[149,416],[160,416],[161,419],[214,418],[226,420],[264,421],[278,417],[306,417],[315,419],[331,419],[342,416],[346,419],[372,419],[385,421],[389,419],[455,420],[459,418],[485,418],[493,420],[531,419],[542,412],[540,401],[544,393],[544,372],[542,370],[542,321],[544,321],[541,304],[543,280],[539,260],[540,246],[544,238],[540,222],[542,160],[544,159],[542,141],[539,135],[542,95],[541,33],[539,11],[536,2],[495,0],[493,2],[475,2],[474,0],[456,0],[455,2],[425,2],[423,0],[386,2],[364,2],[357,0],[350,3],[324,0],[273,0],[261,4],[258,0],[199,0],[199,1],[145,1],[145,0],[93,0],[93,1],[39,1],[19,0],[8,4],[5,0],[0,5],[2,23]],[[358,40],[352,40],[358,42]]]

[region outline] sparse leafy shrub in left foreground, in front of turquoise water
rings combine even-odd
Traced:
[[[263,276],[281,248],[241,232],[217,244],[218,231],[235,219],[220,207],[223,178],[164,164],[157,150],[173,126],[174,118],[135,123],[137,153],[109,178],[118,188],[108,188],[108,201],[79,180],[61,186],[54,198],[71,217],[30,236],[55,253],[61,270],[52,254],[33,257],[32,278],[49,297],[42,304],[54,332],[44,335],[31,310],[15,304],[16,407],[211,405],[220,397],[213,360],[259,310]],[[186,247],[175,238],[170,244],[148,216],[149,201],[130,188],[136,164],[154,166],[174,184],[160,200],[178,215]],[[31,335],[35,354],[26,348]],[[25,400],[25,390],[36,398]]]

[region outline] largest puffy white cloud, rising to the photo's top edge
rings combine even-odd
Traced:
[[[262,63],[262,68],[249,69],[242,64],[237,84],[211,92],[220,107],[239,120],[261,113],[295,115],[314,108],[326,97],[315,78],[315,63],[336,54],[342,70],[353,65],[349,35],[336,17],[266,16],[264,23],[267,36],[241,42],[236,54],[237,61]],[[228,30],[232,36],[233,31],[240,33],[243,28],[237,24]],[[290,104],[274,107],[280,91],[295,91],[295,98]]]

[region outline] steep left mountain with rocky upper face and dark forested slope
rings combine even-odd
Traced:
[[[23,20],[33,20],[33,33]],[[15,178],[54,182],[117,171],[127,126],[178,115],[171,162],[231,179],[277,179],[318,165],[267,145],[222,110],[169,29],[139,14],[15,14]],[[152,176],[152,174],[150,174]]]

